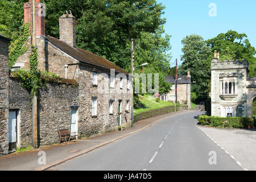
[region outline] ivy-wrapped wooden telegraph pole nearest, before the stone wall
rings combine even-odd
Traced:
[[[32,54],[32,46],[36,47],[36,15],[35,15],[35,0],[32,0],[32,24],[31,24],[31,54]],[[32,56],[32,55],[31,55]],[[38,148],[38,98],[34,94],[32,100],[32,146],[33,148]]]

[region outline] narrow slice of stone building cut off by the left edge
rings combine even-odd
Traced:
[[[9,42],[0,34],[0,155],[9,151]]]

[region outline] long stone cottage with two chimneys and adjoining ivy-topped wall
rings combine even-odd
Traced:
[[[36,12],[42,7],[36,1]],[[31,22],[30,12],[31,2],[25,3],[25,23]],[[46,36],[44,16],[36,13],[38,69],[61,77],[61,83],[50,82],[46,88],[39,89],[38,146],[59,143],[57,130],[60,129],[69,129],[82,138],[121,125],[129,126],[132,104],[129,73],[101,56],[76,47],[76,19],[71,11],[60,16],[59,28],[60,39]],[[28,51],[16,60],[13,71],[29,69],[30,43],[28,38],[25,45]],[[14,78],[9,80],[9,109],[16,121],[15,147],[31,145],[30,93]]]

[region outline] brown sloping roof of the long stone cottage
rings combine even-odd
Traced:
[[[121,72],[125,73],[126,75],[129,75],[128,72],[113,64],[111,61],[105,59],[104,57],[95,55],[94,53],[85,51],[80,48],[71,47],[67,43],[64,43],[59,39],[53,38],[52,36],[42,35],[42,37],[51,42],[57,48],[61,49],[61,51],[64,51],[65,53],[81,61],[82,63],[96,65],[97,67],[106,69],[115,69],[115,72]]]

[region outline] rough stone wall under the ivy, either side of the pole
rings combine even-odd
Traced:
[[[71,107],[77,106],[78,85],[48,83],[39,89],[38,139],[39,146],[59,143],[57,130],[71,127]],[[10,109],[18,111],[17,147],[32,145],[32,105],[30,93],[20,82],[10,78]]]

